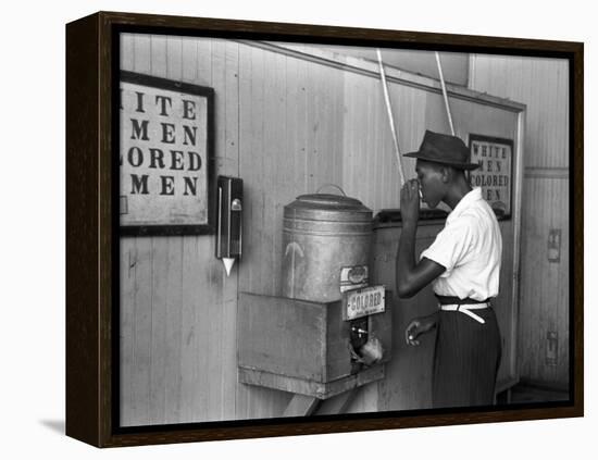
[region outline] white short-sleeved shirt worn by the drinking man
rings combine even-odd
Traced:
[[[435,294],[475,300],[498,295],[502,237],[479,188],[459,201],[424,257],[447,269],[432,284]]]

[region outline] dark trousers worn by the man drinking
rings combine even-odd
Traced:
[[[435,408],[491,406],[502,347],[491,308],[473,311],[485,324],[459,311],[439,311],[434,351]]]

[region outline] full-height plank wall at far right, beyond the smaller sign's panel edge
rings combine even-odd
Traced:
[[[522,380],[569,383],[569,67],[564,60],[472,55],[472,89],[527,104],[520,291]],[[551,232],[560,257],[549,261]],[[558,260],[557,260],[558,259]]]

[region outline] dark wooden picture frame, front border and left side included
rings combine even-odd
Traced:
[[[283,34],[306,39],[315,36],[321,39],[366,39],[370,42],[372,40],[393,41],[395,45],[401,42],[425,45],[443,39],[443,42],[449,47],[468,46],[476,49],[476,52],[490,47],[496,52],[516,48],[518,53],[521,51],[523,54],[556,51],[569,55],[570,62],[573,62],[570,69],[570,89],[573,95],[573,104],[570,107],[573,133],[573,137],[570,138],[572,151],[570,157],[574,178],[571,183],[571,209],[575,209],[571,223],[574,245],[573,257],[571,257],[573,276],[570,293],[573,300],[570,316],[574,333],[573,347],[570,348],[571,376],[574,382],[573,405],[488,412],[471,410],[451,412],[449,410],[413,414],[404,411],[398,417],[385,417],[391,413],[383,412],[376,417],[364,414],[359,420],[324,420],[324,418],[322,421],[304,422],[274,420],[267,424],[258,424],[257,421],[251,424],[250,421],[244,426],[185,430],[169,425],[164,431],[157,427],[146,433],[114,433],[112,386],[117,382],[114,382],[112,370],[119,357],[114,356],[111,343],[112,332],[119,324],[111,313],[111,299],[115,285],[112,273],[115,273],[115,269],[117,270],[117,261],[114,260],[111,250],[115,225],[112,219],[111,192],[113,190],[111,187],[114,185],[111,177],[115,171],[109,153],[113,147],[111,132],[114,128],[114,121],[110,112],[111,104],[108,101],[111,101],[112,97],[111,70],[114,65],[114,43],[111,40],[111,34],[115,25],[202,28],[222,33],[236,30]],[[66,434],[68,436],[97,447],[115,447],[583,417],[583,43],[113,12],[99,12],[72,22],[66,26],[66,32],[67,84],[70,78],[73,80],[74,75],[82,72],[92,73],[96,77],[88,78],[87,90],[77,91],[75,95],[68,86],[66,90]],[[88,47],[89,66],[79,63],[76,69],[70,69],[70,59],[75,47],[73,36],[76,34],[91,39],[89,43],[77,43],[77,47]],[[472,46],[471,40],[476,40],[476,45]],[[68,104],[83,100],[89,104],[87,116],[90,120],[97,116],[95,120],[97,124],[91,134],[77,132],[70,117]],[[71,162],[77,157],[80,163]],[[85,160],[88,162],[86,163]],[[95,206],[86,208],[79,197],[73,195],[73,190],[76,189],[75,165],[84,167],[78,172],[90,179],[85,181],[88,183],[85,191],[91,194],[90,198],[86,196],[86,199]],[[77,232],[75,228],[80,226],[78,222],[80,219],[89,224]],[[84,260],[76,262],[77,257],[80,257],[77,251],[89,243],[92,245],[85,252]],[[84,263],[89,269],[89,273],[84,274],[80,270],[75,270],[78,268],[77,263]],[[77,288],[78,290],[75,289],[74,286],[82,279],[86,284]],[[85,388],[77,388],[82,383],[86,385]]]

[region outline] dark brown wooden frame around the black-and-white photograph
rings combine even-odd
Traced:
[[[114,151],[121,32],[331,45],[408,46],[447,51],[560,57],[570,62],[571,398],[502,410],[446,409],[351,417],[117,424],[119,169]],[[583,43],[303,24],[99,12],[66,26],[66,434],[98,447],[340,433],[447,424],[583,417]],[[212,176],[212,175],[210,175]],[[83,179],[82,179],[83,178]],[[213,210],[212,210],[213,212]],[[212,214],[212,213],[211,213]],[[82,222],[85,224],[82,225]],[[152,231],[139,231],[150,235]],[[160,234],[182,235],[162,228]],[[173,233],[169,233],[173,232]],[[182,232],[182,233],[178,233]]]

